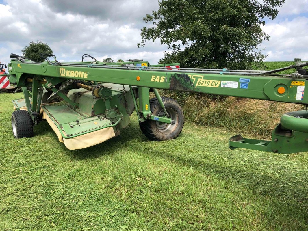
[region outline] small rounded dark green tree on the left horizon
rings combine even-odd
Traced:
[[[38,62],[44,61],[44,59],[40,56],[42,53],[53,55],[53,51],[47,43],[39,41],[29,43],[29,46],[24,47],[21,51],[24,57]]]

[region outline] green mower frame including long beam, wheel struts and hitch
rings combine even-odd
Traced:
[[[144,61],[144,63],[148,62]],[[12,81],[15,81],[17,87],[26,89],[26,78],[32,76],[33,90],[31,94],[28,93],[28,91],[24,91],[26,106],[29,112],[39,109],[41,95],[39,95],[39,100],[37,102],[37,89],[42,86],[39,81],[43,79],[47,79],[45,87],[51,88],[54,92],[57,91],[54,86],[66,79],[128,85],[137,112],[138,122],[143,122],[145,120],[156,120],[168,124],[173,122],[168,118],[164,103],[157,89],[308,105],[308,93],[304,94],[302,88],[305,84],[308,84],[308,80],[306,80],[305,76],[301,77],[297,74],[292,75],[292,78],[286,75],[259,75],[260,72],[258,71],[256,71],[255,74],[235,73],[230,75],[224,70],[221,71],[220,74],[194,70],[166,70],[163,68],[164,65],[162,64],[152,65],[154,69],[134,67],[134,70],[129,67],[109,67],[107,65],[103,66],[102,64],[101,62],[96,62],[95,64],[91,62],[77,62],[58,65],[55,62],[20,62],[13,59],[9,64],[9,67],[12,67],[11,70],[9,70],[11,75],[10,80],[12,79]],[[122,64],[124,63],[120,65]],[[114,63],[110,65],[114,65]],[[302,66],[304,65],[306,64],[304,63]],[[132,86],[138,88],[139,107],[137,106],[136,95],[134,93],[136,88],[133,89]],[[279,93],[278,89],[281,87],[284,88],[284,92]],[[149,102],[150,89],[153,90],[160,106],[165,112],[165,116],[158,117],[151,114]],[[298,97],[298,89],[302,89],[302,97]],[[61,93],[58,92],[57,94],[60,95]],[[76,103],[66,99],[67,97],[65,97],[65,95],[60,96],[62,98],[64,97],[63,99],[73,107],[78,107]],[[34,99],[32,105],[30,104],[30,97]],[[35,119],[33,115],[31,116]],[[241,147],[276,153],[307,151],[308,120],[306,121],[306,119],[308,119],[308,111],[291,112],[291,114],[286,113],[282,115],[281,124],[273,130],[272,141],[244,139],[241,136],[234,136],[229,140],[229,146],[232,149]],[[117,123],[119,123],[119,121],[117,121]],[[112,126],[116,125],[113,124]],[[67,139],[73,137],[64,137],[61,129],[59,130],[63,138]],[[298,142],[299,140],[300,142]]]

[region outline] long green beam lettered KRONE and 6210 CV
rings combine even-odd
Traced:
[[[18,64],[22,68],[17,67]],[[125,68],[123,68],[123,70],[121,70],[112,68],[95,68],[91,66],[57,66],[50,65],[47,62],[43,62],[42,65],[39,65],[32,63],[21,63],[17,60],[12,60],[11,66],[13,67],[13,69],[10,70],[10,74],[16,75],[17,87],[24,86],[24,81],[26,79],[24,75],[32,74],[35,76],[39,76],[40,79],[49,77],[48,79],[50,79],[49,81],[52,82],[53,86],[56,85],[58,82],[61,82],[60,79],[62,79],[62,81],[64,81],[65,79],[79,79],[146,88],[199,92],[206,94],[227,95],[241,98],[262,99],[286,103],[308,104],[308,94],[304,95],[303,100],[297,100],[294,98],[294,96],[296,95],[296,86],[292,86],[291,84],[291,81],[294,81],[294,79],[291,79],[286,76],[273,77],[260,75],[217,75],[204,74],[202,72],[190,73],[189,71],[145,71],[142,68],[140,68],[140,70],[125,70]],[[60,68],[65,68],[66,72],[87,72],[87,78],[85,79],[75,76],[61,76]],[[139,81],[136,79],[137,76],[140,76]],[[164,81],[152,81],[153,78],[156,78],[156,76],[159,76],[160,78],[164,77]],[[222,81],[237,82],[238,84],[240,84],[239,79],[241,78],[249,79],[248,89],[243,89],[240,87],[221,87]],[[300,81],[307,82],[306,79],[300,79]],[[47,88],[50,88],[47,85],[48,83],[45,86]],[[278,94],[277,89],[279,87],[285,87],[286,92],[281,95]]]

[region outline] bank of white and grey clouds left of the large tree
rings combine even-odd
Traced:
[[[142,18],[154,10],[156,1],[146,4],[141,0],[120,0],[108,1],[108,5],[103,4],[104,1],[95,4],[80,1],[81,5],[77,1],[72,4],[65,1],[64,5],[58,5],[57,1],[47,2],[10,0],[8,5],[0,5],[3,6],[0,20],[7,32],[0,36],[2,63],[9,62],[10,53],[21,54],[23,47],[37,40],[49,44],[57,58],[65,61],[80,60],[84,53],[116,60],[144,58],[151,63],[163,57],[166,46],[159,43],[144,48],[136,46],[141,41]],[[138,2],[140,4],[136,5]]]

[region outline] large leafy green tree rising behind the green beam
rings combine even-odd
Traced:
[[[274,19],[285,0],[159,0],[159,9],[143,18],[153,23],[141,29],[146,41],[167,44],[160,63],[182,67],[251,68],[265,55],[257,46],[270,36],[261,25]]]

